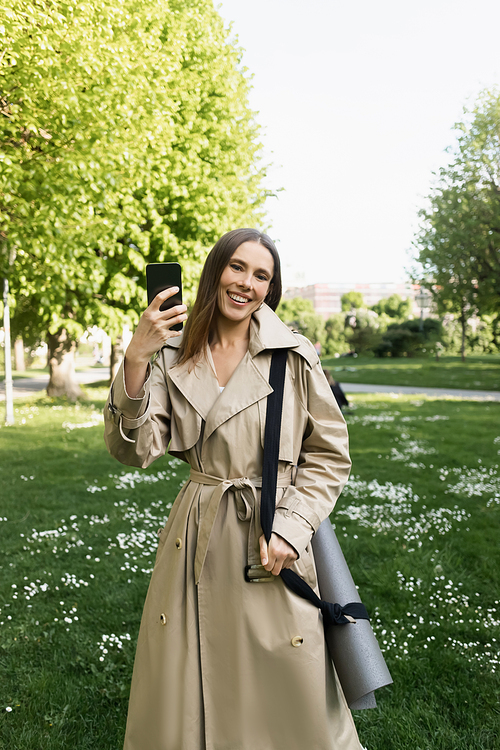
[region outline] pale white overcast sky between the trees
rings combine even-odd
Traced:
[[[500,85],[500,2],[215,6],[253,74],[285,283],[404,281],[453,125]]]

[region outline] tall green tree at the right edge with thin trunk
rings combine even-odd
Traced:
[[[500,92],[484,91],[455,127],[451,163],[420,212],[414,278],[459,319],[464,359],[468,320],[500,310]]]

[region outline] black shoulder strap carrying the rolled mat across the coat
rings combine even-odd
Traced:
[[[264,432],[264,464],[262,467],[262,494],[260,522],[266,540],[269,542],[273,528],[276,507],[276,486],[278,478],[278,458],[285,388],[287,349],[275,349],[271,359],[269,384],[273,392],[267,397],[266,427]],[[353,620],[369,620],[366,607],[361,602],[351,602],[341,607],[320,599],[314,590],[297,573],[289,568],[282,570],[283,582],[298,596],[308,599],[321,609],[326,625],[345,625]]]

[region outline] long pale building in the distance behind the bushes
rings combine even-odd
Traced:
[[[310,299],[314,309],[326,319],[332,313],[341,312],[341,297],[347,292],[361,292],[367,307],[379,302],[381,299],[390,297],[391,294],[399,294],[402,299],[408,297],[413,301],[414,313],[419,314],[419,308],[415,302],[415,295],[420,287],[409,282],[401,283],[374,283],[374,284],[309,284],[308,286],[288,287],[283,297],[293,299],[303,297]]]

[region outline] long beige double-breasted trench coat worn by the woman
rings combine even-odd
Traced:
[[[274,531],[316,587],[311,536],[350,468],[347,429],[311,344],[267,307],[220,393],[211,355],[176,366],[180,338],[143,394],[120,371],[105,408],[110,453],[145,467],[168,449],[191,476],[161,531],[139,633],[125,750],[360,750],[325,652],[321,614],[287,589],[247,583],[258,539],[271,350],[289,350]],[[134,441],[134,442],[131,442]],[[298,466],[292,485],[292,467]]]

